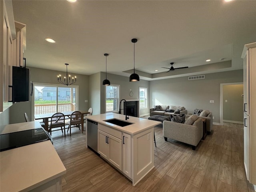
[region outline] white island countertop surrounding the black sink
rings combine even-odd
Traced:
[[[125,120],[125,115],[116,114],[116,113],[105,113],[105,114],[99,114],[99,115],[91,115],[91,116],[86,116],[86,118],[93,120],[95,122],[98,122],[100,124],[104,124],[106,126],[115,128],[122,132],[131,134],[131,135],[137,134],[145,129],[151,128],[158,124],[161,124],[161,122],[158,122],[158,121],[153,121],[153,120],[148,120],[148,119],[143,119],[143,118],[138,118],[138,117],[132,117],[132,116],[129,116],[129,119]],[[109,119],[113,119],[113,118],[120,119],[120,120],[123,120],[126,122],[131,122],[133,124],[121,127],[121,126],[114,125],[112,123],[108,123],[108,122],[104,121],[104,120],[109,120]]]

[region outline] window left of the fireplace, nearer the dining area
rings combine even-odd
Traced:
[[[114,112],[119,110],[119,85],[108,85],[105,86],[106,95],[106,113]]]

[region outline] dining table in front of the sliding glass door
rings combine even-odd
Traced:
[[[78,110],[79,111],[79,110]],[[71,114],[73,113],[74,111],[66,111],[66,112],[61,112],[64,114],[65,117],[68,117],[67,119],[70,119],[70,116]],[[90,112],[86,112],[86,111],[79,111],[82,113],[82,120],[84,120],[84,114],[90,114]],[[55,113],[46,113],[46,114],[36,114],[34,115],[34,118],[35,120],[43,120],[44,122],[44,129],[49,132],[49,118],[52,117],[52,115],[55,114]],[[66,120],[66,118],[65,118]],[[82,133],[83,133],[83,130],[84,130],[84,124],[82,123]]]

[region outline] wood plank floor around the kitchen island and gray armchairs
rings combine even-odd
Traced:
[[[85,147],[85,133],[72,128],[66,138],[52,133],[54,148],[67,173],[63,192],[254,192],[243,166],[243,125],[213,126],[195,151],[187,144],[164,141],[155,127],[155,168],[136,186]]]

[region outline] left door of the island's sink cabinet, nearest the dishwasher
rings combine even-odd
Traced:
[[[108,159],[108,153],[109,153],[107,138],[108,138],[107,133],[101,130],[98,130],[98,153],[105,159]]]

